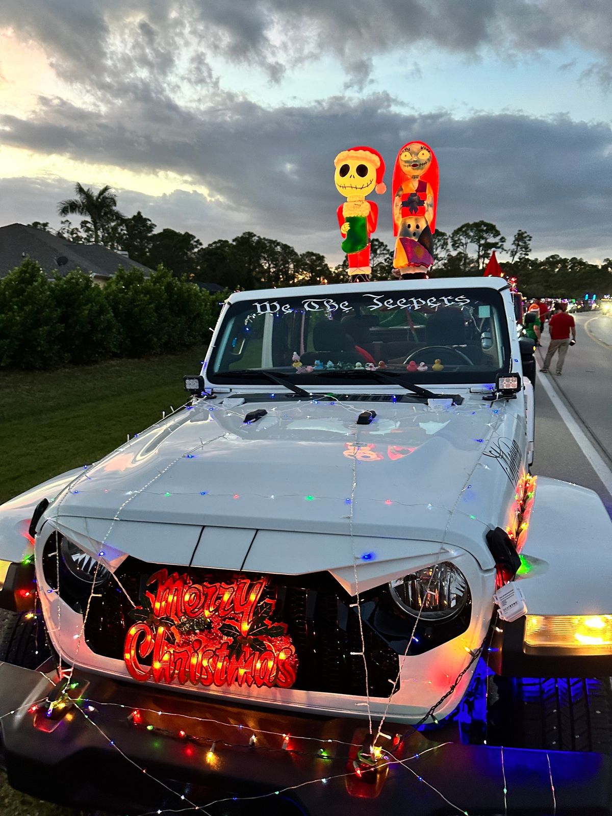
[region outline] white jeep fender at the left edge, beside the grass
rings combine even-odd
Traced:
[[[60,473],[0,505],[0,561],[18,562],[32,554],[28,527],[34,509],[42,499],[53,501],[82,472],[83,468],[75,468]]]

